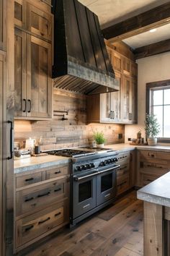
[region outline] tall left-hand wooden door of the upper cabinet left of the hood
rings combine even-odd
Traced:
[[[14,115],[26,116],[26,33],[15,29],[14,35]]]

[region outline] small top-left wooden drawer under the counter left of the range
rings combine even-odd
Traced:
[[[16,187],[25,187],[30,184],[42,182],[42,172],[37,174],[27,174],[16,178]]]

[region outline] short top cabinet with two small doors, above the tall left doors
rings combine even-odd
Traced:
[[[14,22],[17,27],[32,35],[52,40],[52,15],[35,7],[32,1],[14,1]]]

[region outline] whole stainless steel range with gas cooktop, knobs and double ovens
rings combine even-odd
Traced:
[[[48,151],[71,158],[71,225],[115,200],[117,151],[108,148],[78,148]]]

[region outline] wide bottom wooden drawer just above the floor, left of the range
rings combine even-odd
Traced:
[[[22,246],[66,221],[65,201],[16,222],[16,247]]]

